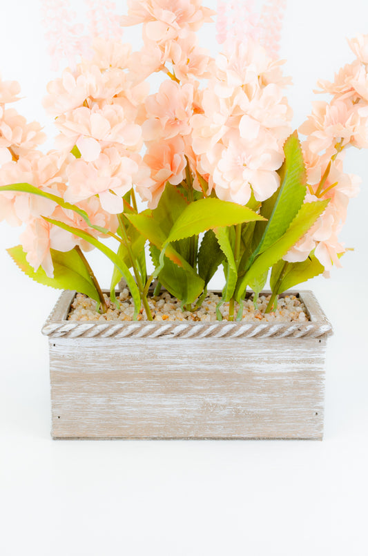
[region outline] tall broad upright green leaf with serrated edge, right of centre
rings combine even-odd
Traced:
[[[271,198],[262,203],[261,214],[268,221],[257,224],[258,246],[253,253],[253,260],[287,231],[298,214],[307,192],[307,174],[298,133],[294,132],[287,139],[284,153],[285,161],[280,169],[280,188]]]

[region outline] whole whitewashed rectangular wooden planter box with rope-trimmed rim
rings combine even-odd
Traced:
[[[322,439],[332,329],[298,295],[310,322],[84,323],[64,291],[42,329],[52,437]]]

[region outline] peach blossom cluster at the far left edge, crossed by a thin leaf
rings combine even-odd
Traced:
[[[75,157],[63,151],[47,154],[39,151],[39,144],[44,140],[41,126],[37,122],[28,124],[14,108],[5,106],[17,100],[19,90],[19,84],[15,82],[0,81],[0,185],[27,183],[65,198],[68,168]],[[101,209],[97,197],[84,200],[78,206],[88,213],[92,224],[111,231],[117,229],[116,217]],[[28,262],[35,270],[41,265],[52,277],[50,249],[69,251],[80,245],[88,250],[91,246],[68,231],[49,224],[42,216],[85,229],[95,236],[97,232],[88,227],[77,213],[62,209],[51,200],[28,193],[1,193],[0,221],[6,220],[12,226],[24,226],[20,240]]]

